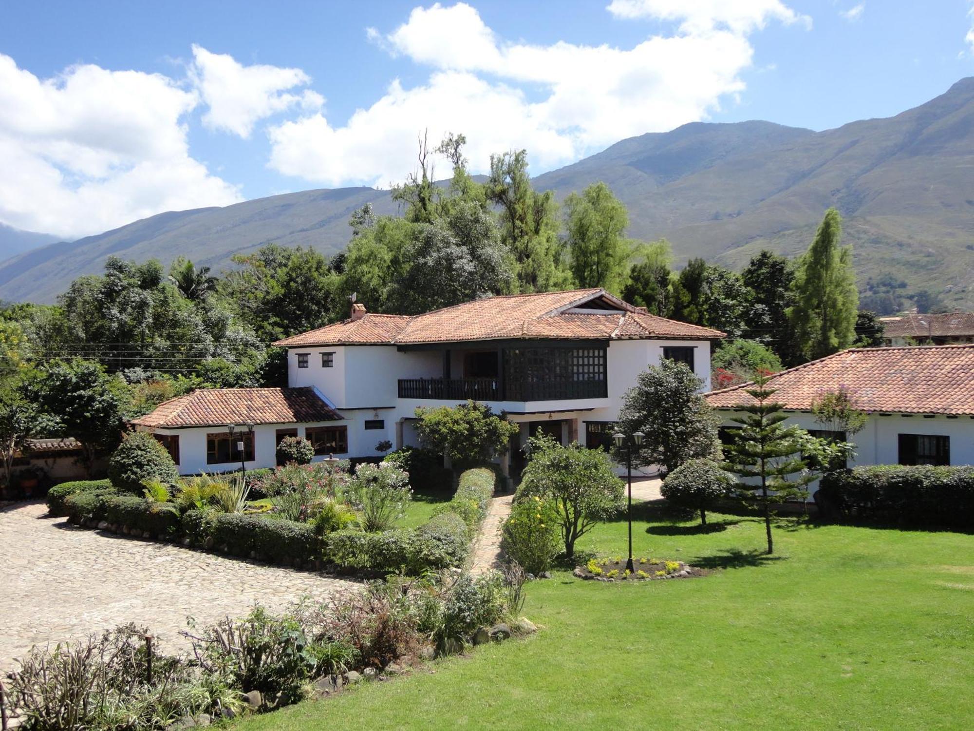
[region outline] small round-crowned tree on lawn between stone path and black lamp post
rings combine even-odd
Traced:
[[[622,481],[609,455],[578,442],[562,446],[548,435],[528,442],[530,459],[514,496],[515,503],[535,497],[550,503],[558,516],[565,556],[575,557],[575,544],[600,519],[622,506]]]

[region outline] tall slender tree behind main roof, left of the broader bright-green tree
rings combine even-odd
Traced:
[[[532,188],[527,152],[491,155],[484,188],[487,200],[501,208],[501,237],[513,258],[514,289],[532,292],[569,287],[572,276],[558,239],[554,193]]]

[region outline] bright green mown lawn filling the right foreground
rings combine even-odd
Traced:
[[[524,641],[245,719],[238,728],[970,728],[974,536],[775,528],[715,532],[640,506],[635,553],[714,568],[606,584],[559,571],[530,586]],[[625,522],[583,548],[625,551]]]

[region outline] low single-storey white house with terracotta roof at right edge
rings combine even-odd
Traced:
[[[742,384],[704,398],[725,426],[753,403]],[[852,348],[774,374],[771,401],[784,404],[786,424],[819,432],[811,405],[840,386],[868,414],[865,428],[850,437],[857,465],[974,464],[974,345]],[[844,434],[835,435],[844,440]],[[813,493],[817,484],[811,485]]]

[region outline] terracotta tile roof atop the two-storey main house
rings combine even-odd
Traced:
[[[604,309],[578,314],[574,308]],[[614,309],[605,309],[606,307]],[[572,289],[475,299],[423,315],[366,314],[360,320],[286,337],[275,345],[390,344],[506,339],[635,339],[724,337],[709,327],[678,323],[639,312],[604,289]]]

